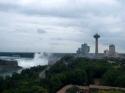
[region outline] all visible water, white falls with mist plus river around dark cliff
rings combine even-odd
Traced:
[[[48,58],[43,53],[36,53],[34,58],[12,58],[12,57],[3,57],[4,59],[13,59],[17,60],[18,66],[21,66],[22,69],[30,68],[38,65],[48,65]],[[12,73],[20,71],[13,71],[13,72],[4,72],[0,73],[0,76],[11,76]]]

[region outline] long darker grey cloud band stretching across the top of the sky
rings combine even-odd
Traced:
[[[35,8],[35,6],[23,6],[20,4],[9,4],[9,3],[1,3],[0,4],[0,10],[1,11],[13,11],[17,13],[23,13],[27,15],[40,15],[40,16],[55,16],[55,17],[68,17],[68,18],[74,18],[74,17],[84,17],[86,14],[95,14],[95,15],[109,15],[114,14],[116,15],[117,12],[119,12],[119,5],[118,6],[109,6],[109,5],[92,5],[88,4],[77,4],[73,2],[67,2],[71,3],[66,4],[62,7],[57,8],[44,8],[44,7],[38,7]],[[99,8],[98,8],[99,7]],[[117,11],[117,12],[116,12]]]

